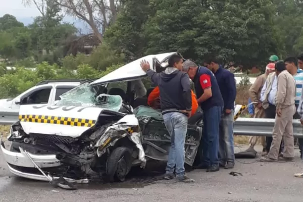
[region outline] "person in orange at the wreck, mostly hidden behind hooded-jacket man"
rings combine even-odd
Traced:
[[[191,90],[191,116],[196,113],[198,109],[198,102],[194,92]],[[160,90],[159,86],[152,90],[147,97],[147,105],[154,109],[160,109]]]

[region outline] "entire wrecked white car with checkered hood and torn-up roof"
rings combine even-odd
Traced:
[[[147,107],[150,84],[142,59],[161,71],[176,53],[146,56],[66,92],[53,106],[21,106],[1,149],[15,175],[35,180],[123,181],[132,166],[167,161],[170,135],[159,111]],[[148,84],[149,82],[149,84]],[[185,163],[192,166],[203,121],[188,121]]]

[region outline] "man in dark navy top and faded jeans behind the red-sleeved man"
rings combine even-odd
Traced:
[[[237,94],[235,77],[234,74],[219,65],[215,57],[209,57],[204,64],[215,74],[224,101],[219,135],[220,166],[232,169],[235,164],[233,139],[234,102]]]

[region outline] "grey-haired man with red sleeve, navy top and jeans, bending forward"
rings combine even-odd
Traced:
[[[219,171],[219,126],[224,103],[217,79],[208,68],[198,67],[192,61],[183,63],[183,71],[194,82],[197,102],[204,113],[202,148],[199,147],[199,156],[203,158],[196,168]]]

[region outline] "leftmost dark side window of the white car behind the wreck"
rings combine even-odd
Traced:
[[[47,104],[51,90],[51,88],[37,90],[27,97],[24,97],[22,99],[21,105]]]

